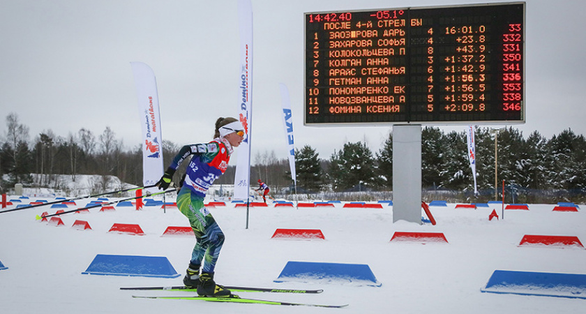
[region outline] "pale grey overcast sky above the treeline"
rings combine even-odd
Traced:
[[[373,152],[391,126],[303,126],[303,13],[503,1],[252,0],[254,23],[252,154],[286,158],[278,83],[290,91],[295,146],[329,158],[345,142]],[[586,1],[528,0],[525,30],[527,137],[571,128],[586,134]],[[33,140],[110,126],[127,148],[141,138],[131,61],[153,69],[163,139],[207,142],[220,116],[239,105],[236,0],[0,0],[0,138],[18,115]],[[498,126],[494,126],[498,127]],[[444,130],[464,130],[451,126]]]

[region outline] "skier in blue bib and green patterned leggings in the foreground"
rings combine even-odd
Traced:
[[[226,171],[233,151],[232,147],[240,145],[244,134],[240,121],[234,118],[219,118],[216,121],[214,139],[206,144],[190,144],[181,147],[163,177],[156,184],[160,189],[168,188],[179,165],[188,156],[194,155],[177,195],[177,207],[189,219],[197,239],[183,283],[188,287],[197,287],[197,294],[200,296],[230,297],[232,294],[230,290],[216,285],[213,281],[216,262],[224,244],[224,233],[204,207],[204,198],[213,181]]]

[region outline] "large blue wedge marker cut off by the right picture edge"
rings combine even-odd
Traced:
[[[481,292],[586,299],[586,274],[495,270]]]

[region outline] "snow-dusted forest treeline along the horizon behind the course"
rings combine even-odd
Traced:
[[[495,135],[497,136],[495,147]],[[476,127],[476,177],[478,200],[495,195],[495,154],[497,186],[504,181],[507,194],[518,202],[580,202],[586,195],[586,139],[567,129],[545,138],[538,131],[524,135],[513,127],[497,134]],[[422,133],[422,186],[433,193],[451,193],[469,199],[473,179],[469,167],[465,132],[444,133],[424,127]],[[52,174],[67,174],[75,181],[79,174],[114,176],[128,184],[142,185],[140,143],[130,149],[110,127],[101,134],[84,128],[68,135],[56,135],[47,128],[29,134],[16,114],[6,117],[6,130],[0,137],[0,178],[3,190],[15,183],[24,186],[54,186]],[[392,133],[372,149],[364,142],[348,142],[331,156],[319,156],[313,147],[297,143],[296,174],[301,193],[392,190]],[[163,141],[165,164],[179,150],[179,144]],[[253,150],[251,180],[262,179],[273,193],[287,193],[292,181],[285,158],[274,151]],[[39,174],[33,176],[31,174]],[[234,165],[216,181],[233,184]],[[431,193],[430,192],[430,193]],[[424,193],[424,195],[426,195]],[[515,198],[516,197],[516,198]]]

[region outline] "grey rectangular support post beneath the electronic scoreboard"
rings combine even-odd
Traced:
[[[421,225],[421,125],[393,126],[393,223]]]

